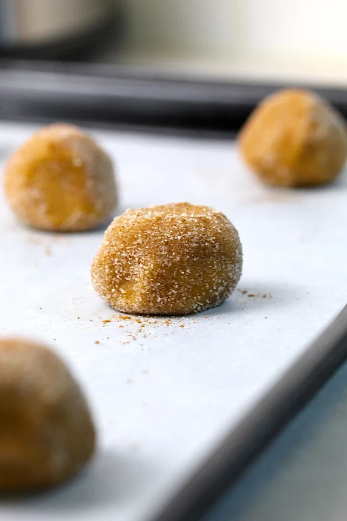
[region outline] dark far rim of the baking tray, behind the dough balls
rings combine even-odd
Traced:
[[[264,96],[283,86],[107,64],[1,59],[0,118],[81,121],[157,133],[230,133]],[[347,118],[346,90],[291,86],[316,91]]]

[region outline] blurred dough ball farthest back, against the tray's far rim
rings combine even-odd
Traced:
[[[347,155],[342,117],[304,90],[282,90],[267,97],[246,121],[239,143],[258,177],[283,187],[328,183]]]

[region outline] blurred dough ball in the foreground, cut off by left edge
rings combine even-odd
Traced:
[[[0,341],[0,492],[36,491],[75,475],[95,430],[77,382],[37,343]]]

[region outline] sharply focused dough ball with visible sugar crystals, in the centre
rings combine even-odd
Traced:
[[[92,282],[118,311],[184,315],[227,299],[241,268],[239,235],[225,215],[173,203],[116,217],[94,257]]]

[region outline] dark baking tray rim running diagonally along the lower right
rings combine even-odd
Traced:
[[[347,306],[147,521],[199,521],[347,357]]]

